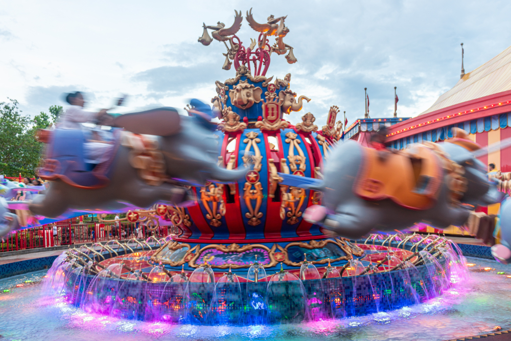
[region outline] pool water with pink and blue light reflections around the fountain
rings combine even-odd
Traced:
[[[445,340],[511,329],[511,266],[469,258],[469,279],[441,297],[391,312],[299,325],[193,326],[145,323],[86,313],[45,299],[45,271],[0,280],[1,334],[6,340]],[[484,270],[484,268],[489,268]],[[505,272],[498,274],[498,272]],[[4,338],[2,338],[4,339]]]

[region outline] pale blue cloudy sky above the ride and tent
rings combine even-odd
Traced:
[[[371,117],[392,116],[394,86],[398,116],[419,115],[459,80],[461,42],[467,73],[511,45],[509,1],[1,0],[0,102],[16,99],[29,115],[76,90],[90,110],[121,94],[115,112],[210,103],[215,81],[235,70],[222,70],[223,43],[197,42],[202,23],[230,27],[249,6],[258,22],[287,15],[284,41],[298,62],[272,54],[266,76],[291,73],[291,90],[312,99],[291,123],[312,112],[321,127],[332,105],[352,123],[364,115],[364,87]],[[259,34],[243,19],[237,35],[248,46]]]

